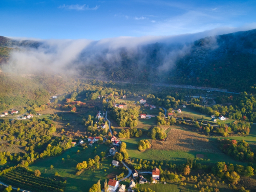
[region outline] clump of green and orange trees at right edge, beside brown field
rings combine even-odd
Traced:
[[[220,149],[237,161],[254,161],[254,154],[250,150],[250,146],[246,141],[237,141],[222,139],[220,141]]]

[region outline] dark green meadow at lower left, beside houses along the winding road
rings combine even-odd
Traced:
[[[92,171],[87,169],[80,176],[75,176],[77,163],[88,161],[89,158],[94,158],[96,155],[100,156],[102,151],[104,152],[109,150],[109,147],[101,144],[97,153],[94,154],[95,146],[98,147],[97,144],[94,144],[93,147],[89,146],[86,150],[83,150],[80,146],[75,146],[63,152],[59,156],[38,160],[34,164],[31,164],[29,168],[32,170],[39,169],[42,177],[52,177],[55,172],[57,172],[61,177],[67,178],[65,191],[89,191],[90,187],[94,183],[97,183],[98,180],[101,180],[101,183],[103,184],[109,174],[115,176],[122,173],[121,169],[110,166],[113,158],[109,157],[105,161],[100,162],[101,165],[99,170]],[[76,153],[77,150],[80,150],[79,154]],[[70,159],[67,159],[68,155],[71,156]],[[65,162],[62,162],[62,158],[65,159]],[[53,169],[50,169],[51,165],[54,166]],[[45,169],[47,169],[46,173]]]

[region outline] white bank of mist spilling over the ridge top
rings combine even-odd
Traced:
[[[95,67],[100,70],[104,63],[109,68],[121,65],[121,54],[125,51],[130,58],[137,58],[138,66],[145,64],[146,46],[162,43],[166,46],[159,53],[161,65],[156,69],[158,72],[171,69],[177,59],[189,54],[191,45],[195,40],[207,36],[246,31],[256,28],[256,25],[243,26],[241,28],[223,27],[214,30],[194,34],[175,36],[142,36],[142,37],[116,37],[101,40],[77,39],[77,40],[37,40],[28,41],[24,44],[24,38],[14,38],[19,50],[11,53],[11,58],[3,70],[6,72],[21,73],[66,73],[78,74],[81,68]],[[215,45],[215,38],[212,38]],[[170,46],[170,45],[173,45]],[[214,48],[214,47],[213,47]]]

